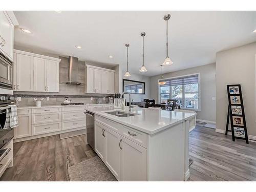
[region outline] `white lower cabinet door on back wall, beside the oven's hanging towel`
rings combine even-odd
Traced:
[[[14,130],[15,139],[31,136],[31,130],[31,114],[19,115],[18,126]]]

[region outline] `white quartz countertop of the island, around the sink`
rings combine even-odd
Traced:
[[[132,108],[129,112],[129,107],[125,107],[125,112],[136,113],[138,115],[131,117],[118,117],[105,112],[113,111],[113,106],[105,107],[91,107],[87,111],[96,115],[105,117],[115,122],[132,127],[136,130],[147,134],[155,134],[170,126],[176,125],[184,120],[195,117],[195,113],[166,111],[166,110],[152,110],[145,108]],[[121,110],[118,110],[121,111]]]

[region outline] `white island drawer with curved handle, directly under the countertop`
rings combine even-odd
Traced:
[[[146,148],[147,134],[122,125],[122,136]]]

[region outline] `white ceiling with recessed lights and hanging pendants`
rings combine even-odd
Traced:
[[[158,75],[165,58],[166,13],[172,15],[168,39],[174,64],[164,67],[164,73],[213,63],[216,52],[256,41],[256,33],[252,33],[256,11],[15,11],[19,27],[32,34],[15,28],[14,44],[79,60],[120,64],[124,71],[124,44],[129,43],[133,74],[142,65],[140,33],[146,32],[148,71],[143,75]]]

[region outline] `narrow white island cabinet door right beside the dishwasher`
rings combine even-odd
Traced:
[[[95,135],[95,152],[100,159],[105,162],[105,137],[102,135],[104,126],[98,122],[95,122],[94,135]]]

